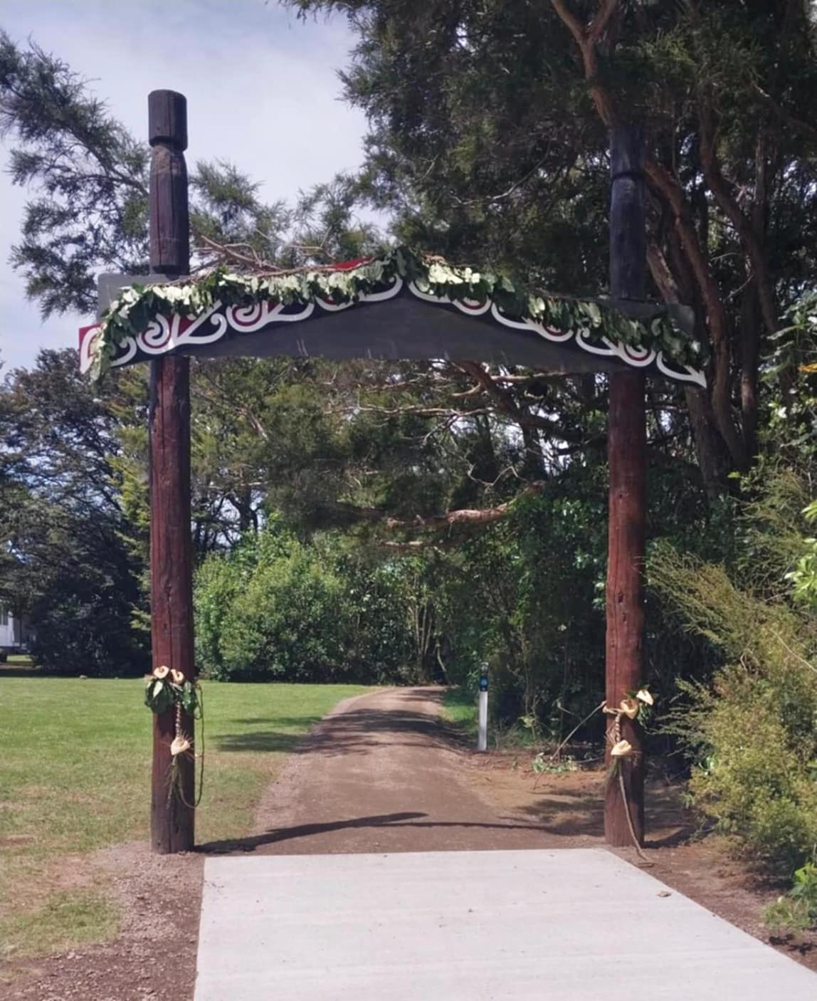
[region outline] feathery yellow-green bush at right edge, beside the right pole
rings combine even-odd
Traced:
[[[669,547],[653,553],[649,577],[721,661],[711,684],[679,682],[686,698],[671,717],[693,759],[696,806],[771,865],[802,865],[817,846],[813,625]]]

